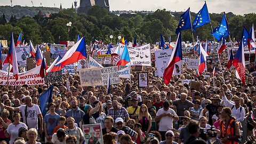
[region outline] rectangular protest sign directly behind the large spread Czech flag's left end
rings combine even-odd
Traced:
[[[66,45],[65,44],[51,44],[50,51],[51,51],[51,59],[56,59],[59,55],[61,58],[63,58],[63,56],[67,52]]]

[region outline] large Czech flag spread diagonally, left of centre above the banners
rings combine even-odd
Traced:
[[[78,60],[86,59],[86,45],[85,39],[82,37],[74,46],[72,46],[67,53],[63,56],[63,58],[56,63],[56,65],[61,65],[63,68],[66,65],[70,65],[71,63],[75,63]]]

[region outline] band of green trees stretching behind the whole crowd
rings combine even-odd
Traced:
[[[23,16],[16,18],[11,15],[6,20],[3,14],[0,17],[0,39],[10,39],[10,31],[13,31],[14,39],[17,39],[22,31],[22,41],[31,40],[34,44],[59,43],[59,41],[76,41],[77,35],[85,36],[86,43],[101,39],[105,43],[116,43],[118,36],[132,42],[137,36],[137,42],[155,43],[160,41],[162,34],[165,41],[177,39],[175,29],[177,28],[182,13],[172,13],[170,11],[157,10],[154,13],[144,14],[120,14],[106,11],[100,6],[92,6],[87,14],[77,14],[75,9],[63,9],[58,13],[52,13],[50,17],[34,15],[34,17]],[[196,13],[191,12],[191,20],[194,20]],[[243,27],[250,30],[251,23],[256,23],[256,14],[249,13],[235,15],[231,12],[226,14],[229,24],[230,37],[236,41],[241,38]],[[213,28],[219,25],[222,13],[210,13]],[[67,23],[72,22],[68,32]],[[114,37],[110,39],[110,35]],[[198,27],[194,32],[194,38],[198,36],[202,41],[206,39],[213,41],[211,35],[211,25],[208,23]],[[229,40],[228,38],[226,38]],[[182,31],[182,41],[192,42],[191,30]],[[195,41],[195,40],[194,40]]]

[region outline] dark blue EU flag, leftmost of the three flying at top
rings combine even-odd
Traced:
[[[191,29],[190,8],[188,8],[188,10],[181,15],[180,22],[175,33],[178,35],[181,30],[185,29]]]

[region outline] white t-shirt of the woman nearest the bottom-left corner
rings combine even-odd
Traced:
[[[14,143],[14,140],[16,138],[18,138],[19,136],[19,129],[20,127],[27,127],[27,125],[25,123],[22,123],[20,122],[20,124],[18,125],[14,125],[14,124],[10,124],[8,127],[7,127],[7,133],[9,133],[9,135],[11,135],[11,139],[10,139],[10,144],[13,144]]]

